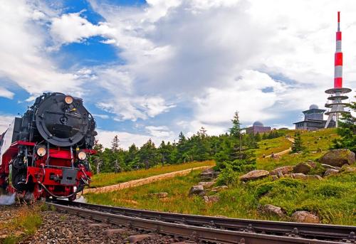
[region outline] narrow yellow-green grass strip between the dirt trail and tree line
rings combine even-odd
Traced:
[[[128,171],[122,173],[103,173],[95,174],[93,176],[93,183],[91,186],[101,187],[110,186],[113,184],[119,184],[126,181],[132,181],[135,179],[142,179],[150,176],[156,176],[159,174],[165,174],[173,171],[180,171],[184,169],[191,169],[200,166],[214,166],[214,161],[199,161],[189,162],[185,164],[173,164],[169,166],[157,166],[150,169],[140,169],[137,171]]]

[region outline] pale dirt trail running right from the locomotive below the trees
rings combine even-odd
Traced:
[[[116,185],[112,185],[112,186],[103,186],[103,187],[99,187],[96,189],[85,189],[84,194],[85,193],[103,193],[103,192],[108,192],[108,191],[117,191],[117,190],[132,188],[135,186],[142,186],[145,184],[150,184],[155,181],[162,181],[163,179],[170,179],[175,176],[185,176],[185,175],[189,174],[192,170],[208,169],[211,167],[212,166],[200,166],[200,167],[191,168],[191,169],[184,169],[181,171],[169,172],[166,174],[159,174],[157,176],[150,176],[150,177],[143,178],[143,179],[135,179],[133,181],[122,182],[120,184],[116,184]]]

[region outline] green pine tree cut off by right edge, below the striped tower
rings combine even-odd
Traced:
[[[351,102],[349,107],[356,112],[356,102]],[[338,123],[337,134],[341,138],[333,141],[333,148],[346,148],[356,153],[356,117],[347,113],[342,116]]]

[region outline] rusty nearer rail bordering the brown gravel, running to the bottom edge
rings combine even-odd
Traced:
[[[337,244],[338,242],[327,240],[310,240],[298,237],[266,235],[260,233],[248,233],[234,230],[221,230],[201,226],[189,226],[187,224],[169,223],[164,221],[137,218],[132,216],[122,216],[103,211],[93,211],[80,208],[80,206],[65,206],[57,203],[49,203],[57,211],[71,213],[75,216],[90,218],[105,223],[129,226],[143,230],[155,231],[167,235],[179,235],[195,241],[207,241],[212,243],[237,243],[237,244]]]

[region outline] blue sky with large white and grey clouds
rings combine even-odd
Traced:
[[[353,0],[0,0],[0,132],[43,92],[82,97],[110,147],[221,134],[239,111],[290,127],[356,87]]]

